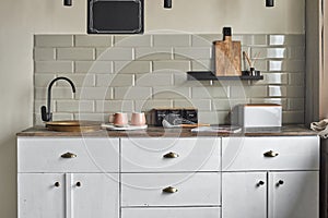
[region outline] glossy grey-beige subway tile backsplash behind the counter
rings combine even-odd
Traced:
[[[281,104],[283,123],[304,122],[305,36],[235,34],[263,81],[187,81],[187,71],[213,71],[213,40],[222,34],[35,35],[34,124],[52,87],[54,120],[107,121],[116,111],[196,107],[199,121],[229,123],[238,104]],[[246,62],[242,61],[245,70]]]

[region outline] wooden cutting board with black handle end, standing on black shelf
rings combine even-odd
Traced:
[[[231,27],[223,28],[223,40],[213,41],[215,48],[215,75],[241,76],[241,41],[232,40]]]

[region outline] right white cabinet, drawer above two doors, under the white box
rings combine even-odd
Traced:
[[[317,137],[223,138],[222,146],[223,218],[318,217]]]

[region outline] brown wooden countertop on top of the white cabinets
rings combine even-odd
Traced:
[[[89,136],[89,137],[197,137],[197,136],[306,136],[316,135],[304,125],[284,125],[280,129],[262,129],[254,128],[243,130],[241,133],[191,133],[190,129],[163,129],[157,126],[149,126],[143,131],[107,131],[99,130],[92,133],[81,132],[55,132],[48,131],[44,126],[33,126],[16,134],[17,136]]]

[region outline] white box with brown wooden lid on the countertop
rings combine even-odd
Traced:
[[[244,128],[279,128],[282,107],[276,104],[239,105],[233,111],[233,123]]]

